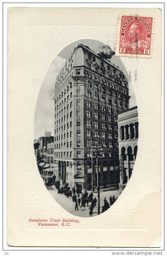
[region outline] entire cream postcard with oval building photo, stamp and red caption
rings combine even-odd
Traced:
[[[160,247],[161,26],[9,8],[8,246]]]

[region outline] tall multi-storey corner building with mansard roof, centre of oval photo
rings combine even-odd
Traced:
[[[123,72],[79,44],[55,84],[54,163],[56,180],[92,189],[91,144],[103,146],[100,187],[119,183],[117,114],[128,109]],[[93,160],[93,186],[97,185]]]

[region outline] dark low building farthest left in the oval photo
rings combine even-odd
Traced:
[[[40,160],[47,162],[47,143],[54,141],[53,136],[40,137],[34,141],[35,157],[37,162]]]

